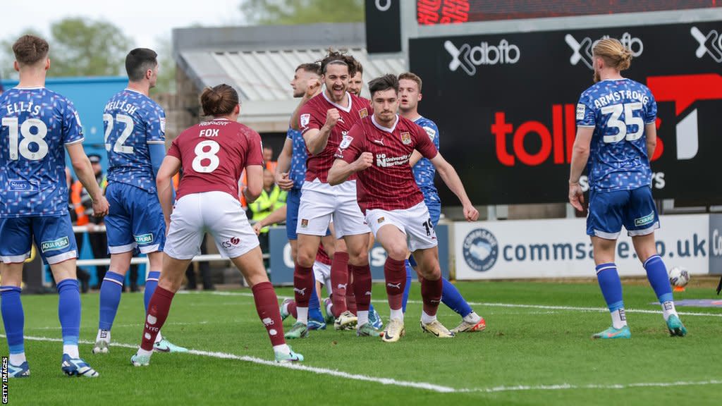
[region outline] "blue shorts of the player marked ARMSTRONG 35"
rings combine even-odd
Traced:
[[[587,234],[616,240],[622,225],[629,236],[646,236],[659,228],[652,189],[590,191]]]

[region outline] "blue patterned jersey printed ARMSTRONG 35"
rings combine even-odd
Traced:
[[[593,127],[587,174],[591,189],[632,190],[650,186],[645,124],[657,118],[648,87],[631,79],[609,79],[585,90],[577,104],[577,126]]]

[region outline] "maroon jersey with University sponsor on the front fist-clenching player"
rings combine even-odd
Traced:
[[[362,152],[373,154],[373,164],[357,173],[361,210],[409,209],[424,200],[409,165],[414,150],[428,159],[438,154],[426,131],[414,121],[396,116],[396,124],[388,129],[370,116],[355,124],[335,156],[352,163]]]

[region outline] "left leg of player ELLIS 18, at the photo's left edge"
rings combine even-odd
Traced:
[[[9,348],[9,378],[30,376],[25,358],[25,312],[20,301],[22,264],[30,258],[32,232],[28,218],[0,219],[0,313]]]

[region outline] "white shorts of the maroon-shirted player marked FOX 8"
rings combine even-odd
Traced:
[[[201,254],[206,232],[224,258],[237,258],[258,246],[238,199],[222,191],[206,191],[186,194],[175,202],[163,251],[171,258],[191,259]]]

